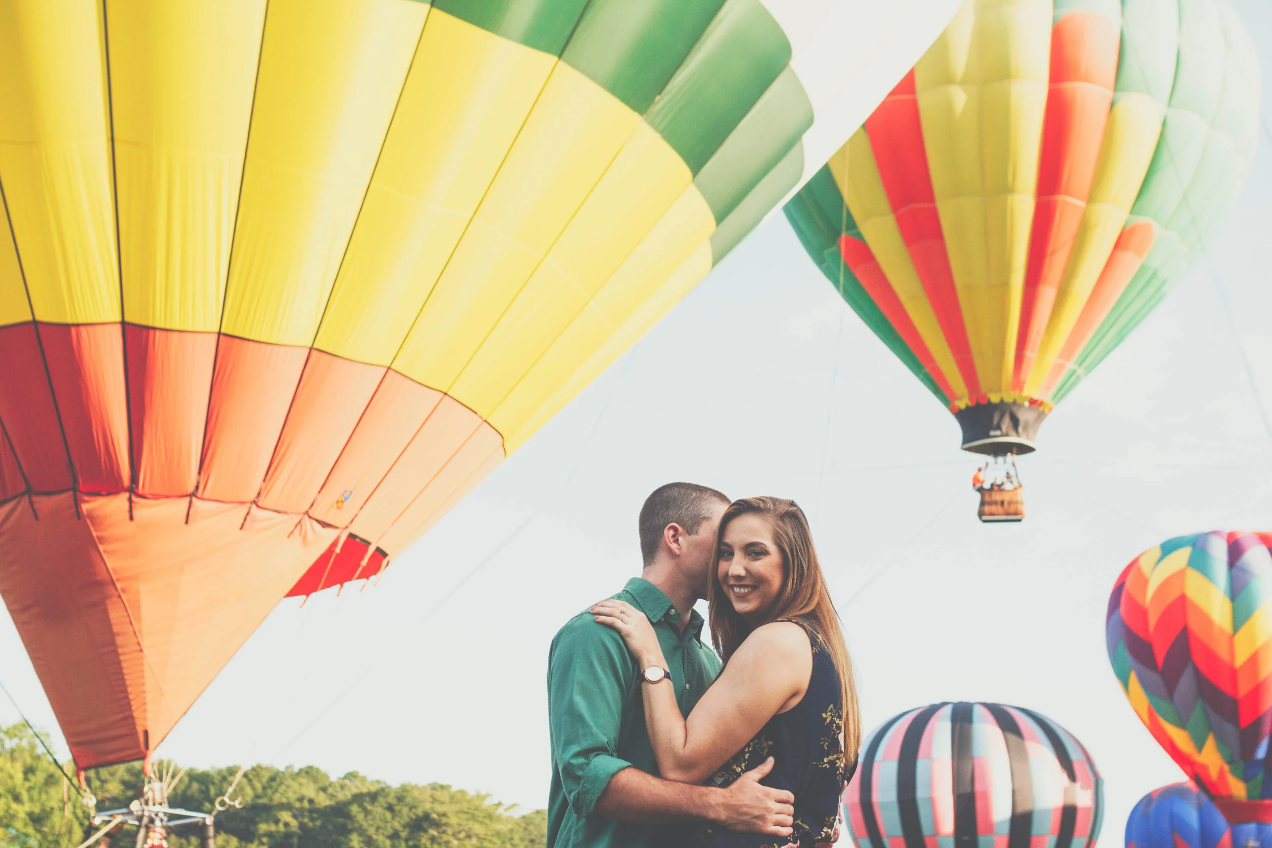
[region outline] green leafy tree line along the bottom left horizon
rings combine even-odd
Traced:
[[[169,806],[211,811],[237,768],[190,769]],[[141,787],[136,763],[93,769],[98,810],[125,807]],[[235,788],[242,809],[216,815],[218,848],[538,848],[547,812],[525,815],[490,796],[449,786],[389,786],[352,772],[332,779],[322,769],[254,765]],[[0,728],[0,848],[75,848],[93,833],[88,810],[24,726]],[[112,848],[132,844],[135,831]],[[168,838],[197,848],[193,825]]]

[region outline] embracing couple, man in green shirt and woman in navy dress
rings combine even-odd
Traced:
[[[833,844],[861,725],[804,512],[669,483],[640,547],[552,641],[548,848]]]

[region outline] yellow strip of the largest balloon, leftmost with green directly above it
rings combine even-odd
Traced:
[[[317,347],[393,361],[555,65],[430,13]]]

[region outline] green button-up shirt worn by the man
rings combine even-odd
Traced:
[[[681,713],[689,715],[720,673],[720,660],[702,643],[702,617],[689,613],[681,633],[675,608],[654,584],[640,577],[614,595],[640,609],[663,646]],[[644,848],[663,844],[656,825],[614,821],[595,812],[597,800],[625,768],[658,774],[645,732],[641,673],[618,632],[591,613],[562,627],[548,653],[548,726],[552,736],[552,788],[548,795],[548,848]],[[667,684],[659,684],[667,685]]]

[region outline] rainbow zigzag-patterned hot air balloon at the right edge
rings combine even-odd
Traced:
[[[1230,824],[1272,823],[1269,533],[1198,533],[1136,557],[1107,647],[1140,721]]]

